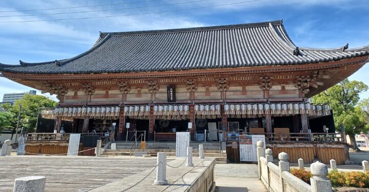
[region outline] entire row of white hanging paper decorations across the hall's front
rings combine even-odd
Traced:
[[[329,105],[311,105],[310,103],[254,103],[254,104],[225,104],[224,111],[228,117],[247,118],[265,116],[287,116],[307,114],[309,116],[330,115]],[[55,116],[83,118],[85,116],[100,119],[117,119],[120,107],[57,107],[43,109],[43,118],[55,119]],[[201,104],[194,106],[196,118],[221,118],[219,104]],[[189,105],[156,105],[154,106],[156,119],[188,119]],[[149,119],[150,106],[125,106],[125,116],[137,119]]]

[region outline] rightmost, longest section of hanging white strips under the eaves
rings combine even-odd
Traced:
[[[271,114],[272,116],[295,114],[326,116],[331,114],[329,105],[312,105],[310,103],[225,104],[224,111],[231,118],[255,118],[265,116],[265,114]]]

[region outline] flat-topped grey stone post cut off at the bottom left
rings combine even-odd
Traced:
[[[46,177],[29,176],[16,178],[14,181],[14,192],[37,191],[44,192]]]

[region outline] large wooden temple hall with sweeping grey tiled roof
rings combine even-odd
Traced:
[[[0,71],[58,95],[58,107],[40,109],[55,125],[37,132],[115,131],[117,140],[130,140],[137,131],[147,141],[171,141],[190,131],[191,140],[203,141],[239,132],[322,133],[324,125],[334,133],[329,106],[308,98],[355,73],[368,56],[369,46],[298,47],[278,20],[100,33],[73,58],[0,64]]]

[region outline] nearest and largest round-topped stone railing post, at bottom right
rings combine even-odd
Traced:
[[[310,171],[313,177],[310,178],[312,192],[329,192],[332,191],[332,183],[326,178],[328,168],[325,164],[317,161],[310,165]]]

